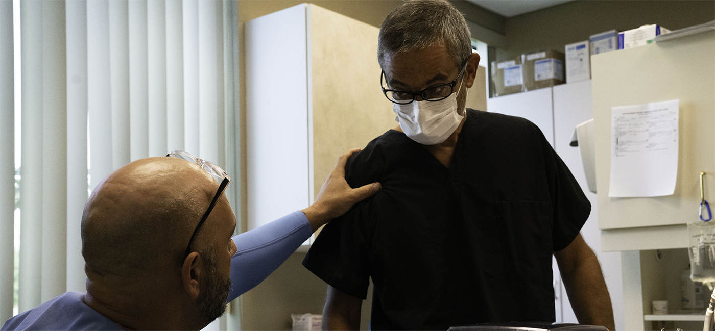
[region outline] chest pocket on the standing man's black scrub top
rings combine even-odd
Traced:
[[[551,204],[539,201],[503,202],[494,205],[501,238],[504,275],[541,282],[551,278]],[[546,270],[545,270],[546,269]]]

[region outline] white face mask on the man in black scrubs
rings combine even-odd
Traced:
[[[457,113],[457,95],[461,88],[460,83],[457,92],[440,101],[393,103],[393,111],[397,114],[395,121],[413,141],[423,145],[443,143],[464,118]]]

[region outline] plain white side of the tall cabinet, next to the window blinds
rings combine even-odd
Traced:
[[[310,203],[306,24],[305,5],[246,23],[248,229]]]

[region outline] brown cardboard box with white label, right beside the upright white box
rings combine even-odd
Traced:
[[[563,76],[564,55],[560,51],[541,51],[524,58],[524,88],[536,90],[566,83]]]

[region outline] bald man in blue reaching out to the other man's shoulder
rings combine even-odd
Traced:
[[[317,228],[380,189],[347,185],[345,161],[354,151],[340,157],[310,207],[233,238],[235,215],[207,170],[167,157],[125,165],[84,208],[87,292],[55,297],[1,331],[201,330]]]

